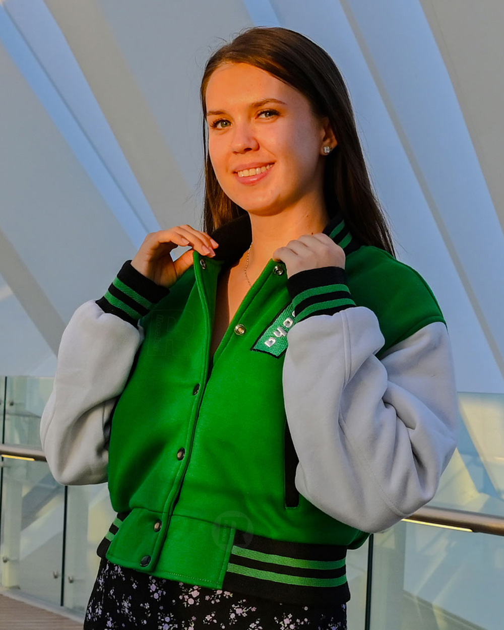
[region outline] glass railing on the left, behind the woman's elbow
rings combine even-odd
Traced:
[[[40,449],[51,389],[52,379],[0,379],[3,444],[28,455]],[[106,484],[62,486],[45,462],[3,457],[0,586],[83,614],[100,563],[96,547],[114,517]]]

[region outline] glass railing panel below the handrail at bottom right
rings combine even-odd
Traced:
[[[501,630],[504,537],[401,522],[375,534],[371,582],[372,630]]]

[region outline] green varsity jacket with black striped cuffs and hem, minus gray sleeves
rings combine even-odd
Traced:
[[[118,515],[99,555],[279,601],[349,599],[347,549],[369,534],[323,512],[295,486],[298,458],[282,394],[289,331],[312,316],[365,306],[384,337],[380,356],[443,318],[416,272],[360,246],[340,216],[324,233],[345,249],[346,270],[287,278],[285,264],[270,260],[213,360],[217,279],[249,246],[248,215],[212,234],[216,256],[195,252],[169,290],[149,293],[125,265],[97,302],[133,325],[141,318],[145,331],[110,419],[108,487]]]

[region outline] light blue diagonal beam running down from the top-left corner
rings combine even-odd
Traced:
[[[74,55],[43,0],[7,0],[0,35],[129,238],[159,229]]]

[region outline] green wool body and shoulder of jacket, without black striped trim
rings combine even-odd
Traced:
[[[279,392],[288,339],[280,331],[278,344],[261,341],[283,321],[295,326],[285,265],[270,260],[265,266],[212,363],[215,293],[223,266],[197,252],[193,258],[169,295],[142,319],[146,337],[113,413],[110,496],[117,512],[129,513],[107,558],[152,575],[222,588],[226,572],[244,571],[230,562],[236,532],[360,546],[366,532],[329,517],[304,496],[297,506],[286,505],[287,418]],[[361,246],[348,256],[346,270],[353,301],[379,320],[385,338],[381,352],[427,324],[444,321],[420,275],[381,249]],[[272,557],[270,568],[293,562],[278,561],[282,554]],[[316,571],[318,565],[306,566]],[[282,571],[279,575],[290,579]],[[321,586],[318,579],[309,578]]]

